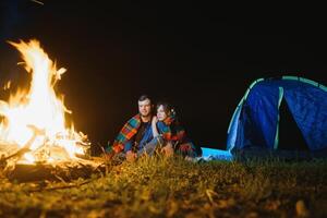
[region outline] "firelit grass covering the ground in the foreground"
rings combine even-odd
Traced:
[[[326,217],[327,160],[143,158],[89,180],[0,179],[0,217]]]

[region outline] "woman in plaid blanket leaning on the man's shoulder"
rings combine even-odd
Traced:
[[[189,158],[201,155],[186,137],[184,129],[177,120],[175,111],[169,104],[157,104],[157,117],[153,118],[152,128],[154,137],[162,137],[162,152],[166,155],[170,156],[175,153]]]

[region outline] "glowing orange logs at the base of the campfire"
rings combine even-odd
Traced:
[[[28,142],[33,143],[33,138]],[[7,157],[4,154],[0,156],[0,171],[2,171],[10,181],[71,181],[77,178],[87,179],[94,173],[105,172],[106,170],[105,161],[101,158],[97,159],[84,155],[80,156],[80,158],[71,159],[64,148],[60,146],[51,146],[48,150],[49,154],[51,154],[50,156],[57,159],[56,161],[28,162],[22,157],[24,154],[31,152],[28,148],[29,143],[20,149],[11,145],[13,150],[17,150]],[[0,147],[8,149],[9,145],[0,145]]]

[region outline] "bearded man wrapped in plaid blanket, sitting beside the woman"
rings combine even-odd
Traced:
[[[143,95],[138,98],[138,113],[121,129],[113,142],[112,154],[120,154],[129,161],[144,153],[152,155],[157,144],[161,143],[160,138],[154,138],[152,119],[152,100],[147,95]]]

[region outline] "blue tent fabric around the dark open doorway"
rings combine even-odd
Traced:
[[[278,149],[280,102],[284,100],[310,150],[327,148],[327,88],[296,77],[255,81],[230,122],[227,149]]]

